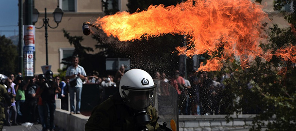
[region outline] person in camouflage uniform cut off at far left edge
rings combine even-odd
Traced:
[[[4,95],[7,94],[6,88],[0,84],[0,131],[2,131],[5,114],[4,114]]]

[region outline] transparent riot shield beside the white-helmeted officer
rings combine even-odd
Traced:
[[[172,131],[179,131],[178,94],[169,83],[159,79],[153,80],[157,87],[152,98],[154,107],[158,111],[158,123],[165,125]]]

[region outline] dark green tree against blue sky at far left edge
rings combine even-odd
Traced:
[[[0,36],[0,73],[9,75],[16,74],[17,70],[17,47],[12,44],[5,35]]]

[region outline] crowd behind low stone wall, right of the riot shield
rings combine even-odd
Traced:
[[[230,74],[218,78],[210,77],[207,72],[192,72],[186,79],[179,70],[176,70],[171,78],[166,78],[164,72],[156,71],[154,74],[154,79],[168,82],[176,89],[179,115],[227,114],[225,110],[232,101],[223,96],[225,95],[223,81],[228,78]]]

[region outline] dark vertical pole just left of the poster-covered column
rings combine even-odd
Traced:
[[[19,60],[19,72],[23,73],[24,70],[24,58],[23,58],[23,3],[22,0],[18,0],[18,60]]]

